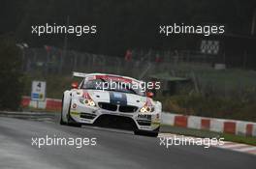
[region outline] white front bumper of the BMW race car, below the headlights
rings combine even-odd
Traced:
[[[76,105],[76,106],[75,106]],[[161,112],[140,113],[123,113],[118,111],[110,111],[100,107],[90,107],[73,99],[70,108],[70,117],[79,124],[95,124],[108,116],[112,119],[131,120],[131,125],[136,129],[153,131],[160,127]],[[118,118],[116,118],[118,117]],[[113,123],[117,123],[113,121]]]

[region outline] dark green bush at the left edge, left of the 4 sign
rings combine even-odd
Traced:
[[[0,40],[0,109],[16,110],[19,107],[23,83],[22,55],[16,42]]]

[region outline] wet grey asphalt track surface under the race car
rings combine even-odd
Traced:
[[[20,117],[19,117],[20,118]],[[52,121],[50,121],[50,119]],[[100,127],[64,127],[58,117],[0,117],[0,168],[255,168],[256,155],[199,146],[160,146],[159,138]],[[96,146],[32,146],[32,137],[96,137]]]

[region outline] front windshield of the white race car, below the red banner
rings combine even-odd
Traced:
[[[84,80],[81,89],[115,91],[128,94],[145,96],[144,88],[139,82],[123,82],[110,79],[90,79]]]

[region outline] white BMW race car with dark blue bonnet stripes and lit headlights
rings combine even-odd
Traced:
[[[156,137],[162,104],[154,101],[140,80],[105,73],[73,72],[81,82],[63,94],[60,125],[96,125],[132,129]]]

